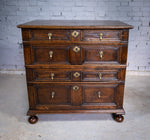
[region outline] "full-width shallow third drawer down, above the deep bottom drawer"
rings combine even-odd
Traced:
[[[97,68],[98,69],[98,68]],[[99,68],[95,69],[26,69],[27,81],[47,81],[47,82],[109,82],[124,81],[124,68]],[[31,76],[32,75],[32,76]]]

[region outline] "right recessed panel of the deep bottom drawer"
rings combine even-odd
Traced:
[[[114,103],[115,86],[88,86],[83,89],[84,103]]]

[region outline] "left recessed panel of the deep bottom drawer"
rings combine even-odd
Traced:
[[[36,105],[67,105],[70,104],[69,86],[43,85],[34,86]]]

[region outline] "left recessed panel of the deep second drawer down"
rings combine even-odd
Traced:
[[[68,61],[67,46],[36,46],[32,47],[33,63],[35,64],[66,64]]]

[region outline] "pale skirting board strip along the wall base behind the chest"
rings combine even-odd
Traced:
[[[1,70],[0,74],[21,74],[24,75],[24,70]],[[150,71],[131,71],[127,70],[126,75],[141,75],[141,76],[150,76]]]

